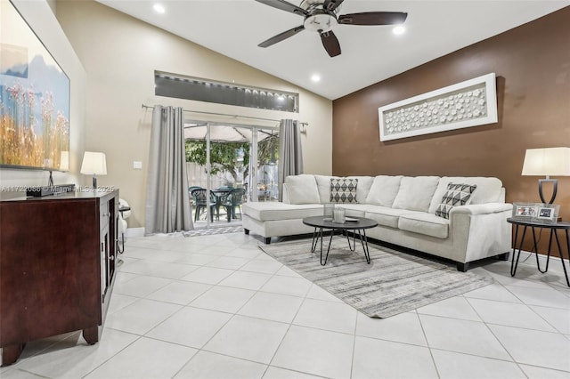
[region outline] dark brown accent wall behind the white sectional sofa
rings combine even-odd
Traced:
[[[497,124],[379,141],[379,107],[490,72]],[[496,176],[508,202],[535,202],[539,178],[521,176],[525,149],[557,146],[570,147],[570,7],[333,101],[336,175]],[[556,204],[570,221],[568,177]]]

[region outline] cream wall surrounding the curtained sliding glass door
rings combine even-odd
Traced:
[[[129,202],[133,209],[129,228],[144,225],[152,112],[142,109],[142,104],[307,122],[303,137],[305,172],[331,173],[332,101],[94,1],[58,1],[56,14],[87,74],[85,149],[107,154],[108,174],[99,178],[99,184],[118,187],[120,197]],[[154,70],[297,92],[300,113],[155,96]],[[205,119],[199,114],[186,115]],[[277,125],[239,117],[213,120]],[[142,170],[133,169],[134,161],[142,161]]]

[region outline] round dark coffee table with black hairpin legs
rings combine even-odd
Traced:
[[[347,217],[346,219],[347,219],[346,222],[343,223],[331,222],[328,220],[325,221],[324,217],[322,216],[305,217],[303,219],[303,223],[305,225],[314,227],[311,253],[314,253],[314,251],[317,248],[317,244],[319,243],[319,239],[321,240],[322,266],[327,264],[327,259],[329,258],[329,253],[330,253],[330,243],[332,242],[332,236],[334,236],[335,230],[341,230],[343,234],[346,234],[346,240],[348,241],[348,248],[352,252],[354,252],[354,250],[356,249],[356,235],[358,235],[358,238],[360,239],[360,242],[362,244],[362,250],[364,250],[364,257],[366,258],[366,262],[370,264],[371,254],[370,250],[368,249],[368,239],[366,238],[366,230],[378,226],[378,222],[375,222],[374,220],[371,219],[366,219],[364,217]],[[323,230],[330,230],[329,247],[327,248],[327,254],[324,256],[324,261],[322,260]],[[347,230],[353,232],[352,244],[350,242],[350,237],[346,233]]]

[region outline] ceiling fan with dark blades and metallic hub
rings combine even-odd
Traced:
[[[285,0],[256,0],[256,2],[305,17],[303,25],[284,31],[277,36],[272,36],[258,44],[259,47],[277,44],[289,36],[295,36],[298,32],[307,29],[316,31],[321,35],[322,45],[331,57],[340,55],[340,44],[332,31],[338,24],[394,25],[403,23],[408,17],[408,13],[405,12],[362,12],[337,15],[339,5],[344,0],[303,0],[299,6],[290,4]]]

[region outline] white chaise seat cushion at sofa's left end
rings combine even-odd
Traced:
[[[292,205],[276,201],[247,202],[241,206],[243,214],[261,222],[274,220],[295,220],[304,217],[322,216],[322,205]]]

